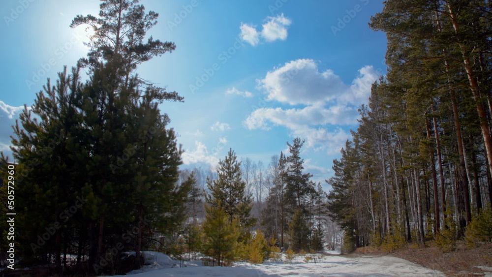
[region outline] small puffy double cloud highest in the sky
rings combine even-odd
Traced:
[[[266,42],[273,42],[277,39],[287,39],[287,27],[292,21],[286,18],[283,13],[276,17],[267,17],[267,22],[262,25],[261,31],[256,30],[256,26],[252,26],[246,23],[241,23],[239,29],[241,29],[241,38],[252,46],[258,45],[260,37]]]

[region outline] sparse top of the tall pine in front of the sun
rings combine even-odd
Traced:
[[[126,86],[138,64],[176,49],[173,42],[161,42],[152,36],[144,41],[147,31],[157,24],[159,14],[154,11],[146,14],[138,0],[103,0],[99,6],[99,17],[77,15],[70,24],[71,28],[87,25],[86,28],[94,32],[87,43],[88,57],[79,60],[82,66],[93,70],[100,67],[101,62],[120,56],[122,66],[117,70],[122,71]],[[166,97],[183,99],[176,92],[166,92]]]

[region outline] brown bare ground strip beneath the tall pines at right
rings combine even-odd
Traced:
[[[402,258],[433,270],[438,270],[447,276],[488,276],[490,271],[479,268],[492,268],[492,244],[482,244],[477,248],[468,248],[463,242],[458,242],[456,249],[443,252],[435,246],[419,247],[407,245],[402,249],[388,253],[377,247],[360,247],[347,256],[393,256]]]

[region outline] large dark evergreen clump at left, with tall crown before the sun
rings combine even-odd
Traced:
[[[164,100],[183,98],[154,86],[144,86],[142,91],[143,83],[136,76],[130,78],[136,64],[165,52],[163,44],[152,39],[140,42],[157,15],[143,16],[143,6],[135,6],[137,2],[103,2],[93,41],[101,43],[97,47],[102,48],[96,48],[105,49],[105,54],[98,56],[102,60],[89,59],[90,80],[82,85],[78,68],[71,75],[65,69],[57,85],[48,82],[31,111],[25,109],[22,128],[14,129],[14,157],[24,176],[19,199],[25,201],[20,206],[26,207],[26,218],[20,222],[31,222],[25,229],[32,230],[20,239],[26,242],[26,259],[30,252],[32,258],[45,262],[54,256],[60,268],[67,266],[62,253],[77,253],[79,265],[88,256],[90,267],[98,273],[106,266],[118,268],[116,255],[106,254],[122,244],[119,250],[136,250],[138,266],[147,238],[170,232],[185,218],[191,183],[177,185],[182,150],[174,131],[167,128],[169,118],[157,108]],[[131,12],[123,23],[119,15],[127,8]],[[84,22],[74,24],[79,23]],[[118,43],[103,45],[115,38],[109,32],[121,28],[127,29],[116,37]],[[118,45],[131,48],[130,55],[123,55]],[[31,112],[40,120],[32,119]],[[50,226],[53,222],[63,224]],[[37,242],[36,236],[46,228],[55,230],[49,231],[53,238]]]

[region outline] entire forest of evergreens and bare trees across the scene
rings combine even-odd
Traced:
[[[184,97],[137,74],[176,45],[148,36],[158,14],[138,2],[103,0],[98,16],[76,16],[70,28],[94,31],[87,57],[48,79],[13,126],[13,157],[0,159],[2,266],[12,210],[16,268],[61,276],[125,274],[149,250],[232,266],[492,243],[490,1],[387,0],[371,17],[387,36],[387,73],[359,107],[327,192],[305,169],[302,137],[268,165],[231,148],[216,170],[181,167],[159,105]]]

